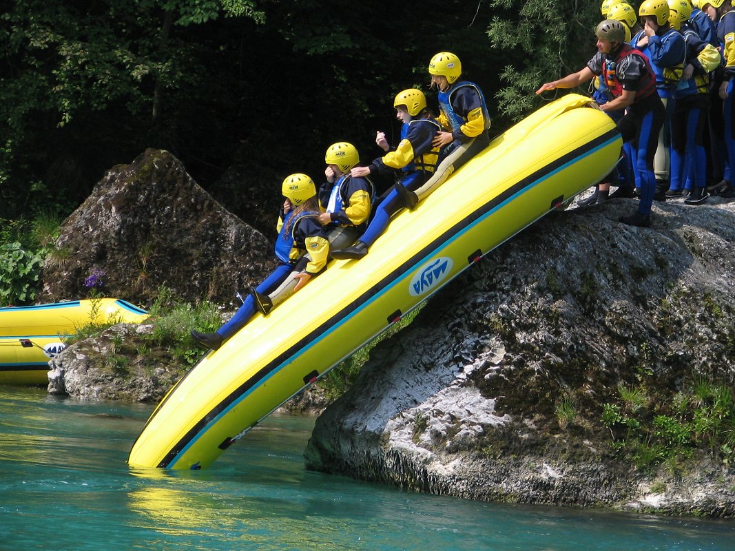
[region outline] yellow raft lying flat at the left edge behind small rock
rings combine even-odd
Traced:
[[[0,384],[46,384],[49,359],[90,323],[140,323],[145,310],[125,300],[70,300],[38,306],[0,308]]]

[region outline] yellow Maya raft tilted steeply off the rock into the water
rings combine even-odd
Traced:
[[[569,95],[467,162],[359,261],[332,262],[182,378],[132,447],[138,467],[207,467],[233,442],[493,248],[612,170],[613,121]]]

